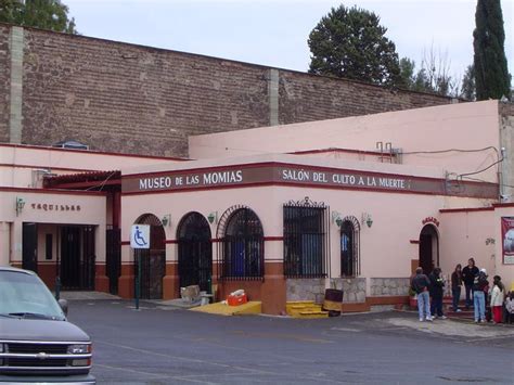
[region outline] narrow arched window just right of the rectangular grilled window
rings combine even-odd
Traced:
[[[360,273],[360,224],[356,217],[346,217],[340,224],[340,275],[357,277]]]

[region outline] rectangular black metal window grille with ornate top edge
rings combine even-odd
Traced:
[[[327,277],[330,268],[329,207],[306,197],[290,201],[284,210],[284,274]]]

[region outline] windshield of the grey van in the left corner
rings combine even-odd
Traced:
[[[0,315],[65,319],[39,278],[16,271],[0,271]]]

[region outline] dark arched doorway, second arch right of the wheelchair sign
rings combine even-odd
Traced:
[[[180,287],[200,285],[210,292],[213,244],[210,227],[200,213],[185,215],[177,230]]]

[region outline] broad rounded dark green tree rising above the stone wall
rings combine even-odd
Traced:
[[[321,18],[309,35],[309,73],[378,85],[396,85],[398,54],[384,35],[387,28],[372,12],[339,5]]]

